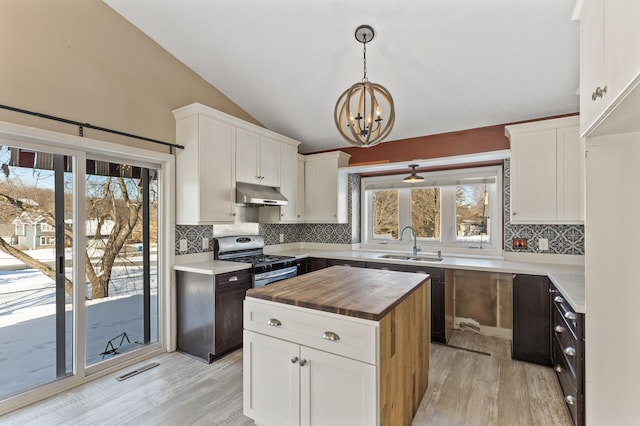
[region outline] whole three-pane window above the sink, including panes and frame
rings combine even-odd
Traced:
[[[502,168],[500,166],[421,173],[419,184],[399,176],[362,180],[363,247],[406,250],[411,226],[423,252],[502,251]]]

